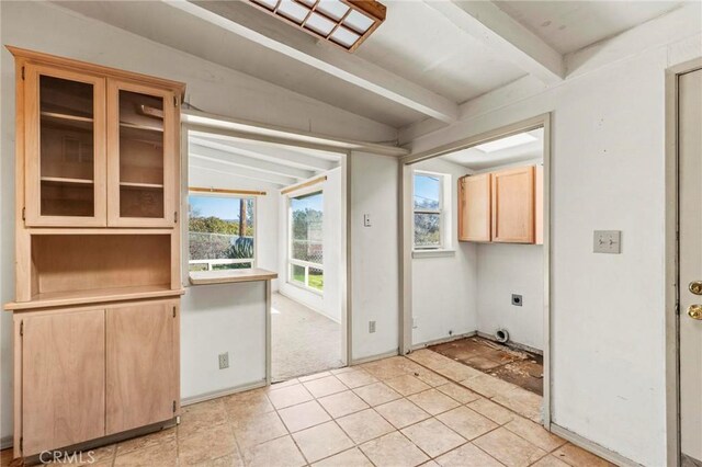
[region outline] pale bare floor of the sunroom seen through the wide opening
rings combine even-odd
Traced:
[[[274,381],[339,368],[341,326],[308,307],[272,295],[271,371]]]

